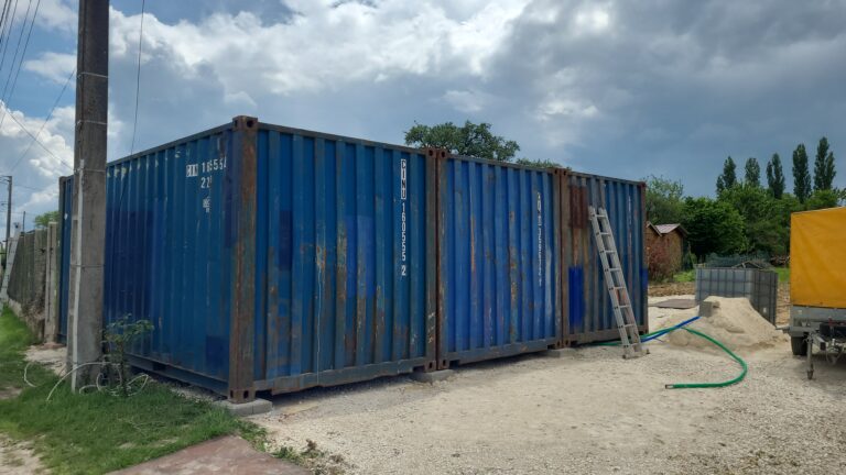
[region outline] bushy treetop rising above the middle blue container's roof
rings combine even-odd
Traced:
[[[454,154],[499,162],[511,162],[520,150],[517,142],[494,135],[489,123],[475,124],[470,121],[466,121],[463,126],[452,122],[431,126],[415,122],[405,132],[405,144],[447,148]]]

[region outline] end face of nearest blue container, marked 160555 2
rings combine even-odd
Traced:
[[[433,366],[425,156],[265,124],[257,151],[257,389]]]

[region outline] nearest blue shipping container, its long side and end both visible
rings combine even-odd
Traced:
[[[421,151],[251,118],[110,163],[106,322],[232,400],[433,369],[433,186]]]

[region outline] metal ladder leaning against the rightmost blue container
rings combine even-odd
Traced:
[[[634,320],[634,311],[631,308],[629,289],[626,287],[626,278],[620,265],[620,256],[617,253],[617,244],[614,241],[611,223],[604,208],[588,207],[590,223],[594,227],[594,239],[599,259],[605,270],[605,286],[611,297],[614,317],[617,319],[617,329],[620,331],[620,344],[622,357],[634,358],[649,354],[643,347],[638,332],[638,322]]]

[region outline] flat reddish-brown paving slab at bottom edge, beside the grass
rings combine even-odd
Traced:
[[[223,437],[161,459],[112,472],[112,475],[310,475],[311,473],[304,467],[256,451],[243,439]]]

